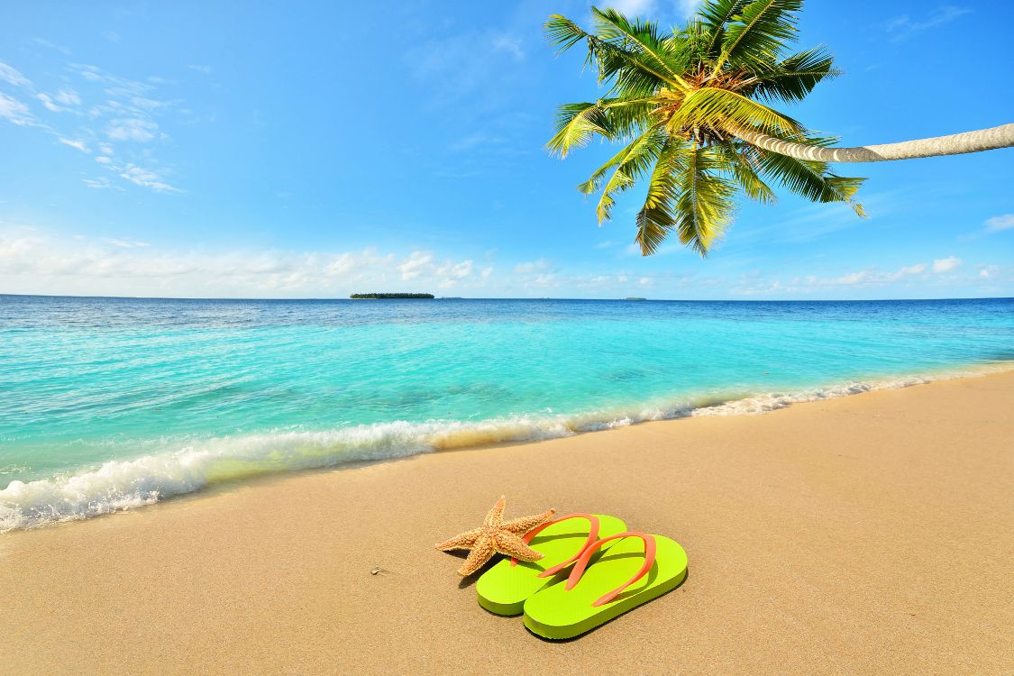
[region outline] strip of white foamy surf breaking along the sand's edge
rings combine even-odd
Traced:
[[[136,460],[111,460],[90,471],[29,482],[11,481],[0,491],[0,533],[150,505],[215,482],[258,474],[384,460],[483,444],[553,439],[686,416],[764,414],[801,401],[908,387],[1009,368],[1010,365],[998,365],[929,376],[842,383],[795,392],[769,392],[728,400],[714,397],[640,410],[571,417],[546,415],[482,422],[394,422],[327,432],[215,438]]]

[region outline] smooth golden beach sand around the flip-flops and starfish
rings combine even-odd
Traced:
[[[996,374],[9,533],[0,673],[1014,673],[1012,411]],[[687,580],[541,641],[433,548],[501,494],[673,537]]]

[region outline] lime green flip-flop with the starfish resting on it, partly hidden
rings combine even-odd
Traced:
[[[604,514],[568,514],[542,524],[522,538],[542,558],[504,559],[484,573],[476,583],[479,605],[498,615],[520,615],[525,599],[559,581],[557,574],[578,560],[589,545],[625,530],[627,524]]]

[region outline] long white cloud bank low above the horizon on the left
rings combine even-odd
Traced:
[[[480,288],[492,275],[492,268],[475,275],[472,260],[437,261],[429,251],[400,257],[375,248],[165,250],[129,236],[56,237],[0,228],[0,286],[16,293],[344,297],[356,291],[407,290],[399,272],[410,261],[421,268],[411,291]]]

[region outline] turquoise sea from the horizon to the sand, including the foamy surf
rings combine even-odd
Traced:
[[[0,296],[0,531],[247,474],[767,410],[1014,359],[1014,300]]]

